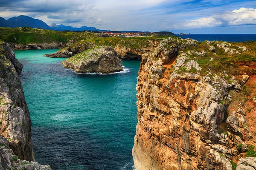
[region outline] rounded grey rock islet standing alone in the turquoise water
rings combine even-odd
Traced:
[[[79,73],[109,74],[123,71],[116,51],[108,46],[96,46],[66,59],[62,64]]]

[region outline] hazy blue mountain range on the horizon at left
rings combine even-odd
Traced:
[[[48,26],[42,20],[34,19],[32,17],[25,16],[25,15],[12,17],[12,18],[9,18],[8,20],[0,17],[0,27],[16,28],[16,27],[25,27],[25,26],[30,28],[41,28],[41,29],[55,30],[55,31],[85,31],[85,30],[100,31],[95,27],[87,27],[87,26],[76,28],[72,26],[64,26],[62,24],[56,25],[55,23],[52,23]]]

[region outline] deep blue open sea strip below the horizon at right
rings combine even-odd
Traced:
[[[191,38],[198,41],[227,41],[227,42],[245,42],[256,41],[256,34],[191,34],[177,35],[183,39]]]

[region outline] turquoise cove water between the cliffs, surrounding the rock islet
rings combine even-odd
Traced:
[[[55,51],[15,51],[36,160],[53,170],[132,170],[140,61],[123,61],[118,74],[76,74],[43,57]]]

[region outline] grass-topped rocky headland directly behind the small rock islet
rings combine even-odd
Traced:
[[[76,42],[53,54],[45,54],[46,57],[52,58],[69,58],[75,54],[81,53],[93,46],[108,45],[115,49],[120,59],[141,59],[145,53],[152,52],[163,38],[140,37],[135,38],[101,38],[95,40],[86,40],[84,42]]]

